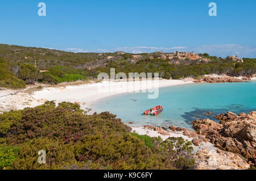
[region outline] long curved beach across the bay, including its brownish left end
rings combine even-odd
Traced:
[[[209,75],[212,76],[212,75]],[[214,76],[214,75],[213,75]],[[220,76],[220,75],[218,75]],[[194,79],[185,78],[181,80],[167,80],[159,79],[159,88],[171,87],[179,85],[188,85],[195,83]],[[256,81],[256,77],[251,81]],[[137,81],[142,82],[142,81]],[[122,82],[110,82],[104,81],[103,83],[109,83],[110,85],[121,85]],[[130,82],[131,83],[131,82]],[[134,82],[132,82],[134,83]],[[201,82],[204,83],[204,82]],[[109,96],[118,94],[125,94],[131,92],[123,92],[123,89],[119,89],[117,92],[98,92],[97,86],[102,82],[97,81],[77,81],[60,83],[58,85],[29,85],[25,89],[11,90],[6,88],[0,89],[0,113],[10,110],[23,110],[26,107],[36,107],[44,104],[47,100],[56,100],[59,102],[72,102],[79,103],[82,109],[90,108],[93,103]],[[38,90],[36,87],[42,86],[42,90]],[[135,91],[142,91],[142,87],[137,87]],[[93,111],[90,111],[92,113]]]

